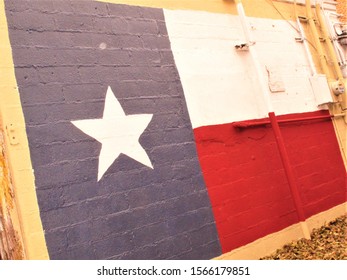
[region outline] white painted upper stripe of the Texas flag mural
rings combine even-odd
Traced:
[[[244,42],[238,16],[165,10],[175,62],[193,127],[263,118],[265,102]],[[270,95],[277,114],[317,110],[304,46],[284,20],[250,18],[251,34],[268,83],[266,65],[276,65],[285,92]],[[292,23],[293,25],[295,23]]]

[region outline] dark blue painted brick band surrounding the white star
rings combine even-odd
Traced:
[[[40,214],[52,259],[220,255],[192,127],[160,9],[6,1]],[[127,115],[153,114],[97,182],[100,143],[71,120],[102,116],[111,86]]]

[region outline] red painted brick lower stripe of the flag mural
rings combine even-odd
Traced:
[[[223,252],[299,221],[270,126],[224,124],[194,131]],[[305,218],[344,203],[346,171],[331,121],[284,123],[281,131]]]

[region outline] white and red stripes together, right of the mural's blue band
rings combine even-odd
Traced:
[[[272,129],[232,125],[267,116],[258,78],[270,88],[273,74],[280,90],[265,94],[280,118],[326,114],[318,111],[295,23],[248,18],[259,75],[249,52],[234,48],[244,42],[239,17],[165,10],[165,18],[223,252],[297,223]],[[345,168],[330,119],[281,130],[305,217],[344,203]]]

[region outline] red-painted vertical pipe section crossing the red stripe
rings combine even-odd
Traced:
[[[287,176],[290,191],[291,191],[292,196],[293,196],[295,208],[296,208],[296,211],[298,213],[298,218],[299,218],[300,222],[303,222],[303,221],[305,221],[303,204],[302,204],[302,201],[300,199],[298,184],[297,184],[297,181],[295,179],[295,175],[294,175],[292,166],[291,166],[290,161],[289,161],[287,149],[284,145],[283,136],[282,136],[280,127],[278,125],[278,120],[277,120],[277,117],[276,117],[274,112],[269,113],[269,118],[270,118],[271,126],[272,126],[274,134],[275,134],[277,146],[278,146],[281,160],[282,160],[284,170],[285,170],[285,173]]]

